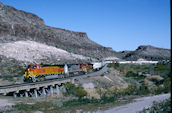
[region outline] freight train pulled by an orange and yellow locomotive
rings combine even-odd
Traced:
[[[60,79],[99,70],[104,66],[102,62],[85,64],[40,65],[30,64],[24,74],[24,82],[37,82],[47,79]]]

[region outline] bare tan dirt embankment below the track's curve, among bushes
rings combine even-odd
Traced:
[[[105,92],[107,89],[114,90],[118,88],[122,90],[128,87],[128,83],[124,80],[121,73],[112,68],[109,68],[108,71],[102,75],[76,80],[76,84],[82,84],[89,96],[94,98],[100,98],[100,93]],[[101,92],[98,90],[101,90]]]

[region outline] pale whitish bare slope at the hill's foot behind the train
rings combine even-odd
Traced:
[[[66,61],[88,61],[88,57],[69,53],[53,46],[33,42],[16,41],[0,44],[0,55],[26,63],[62,64]],[[81,62],[80,61],[80,62]]]

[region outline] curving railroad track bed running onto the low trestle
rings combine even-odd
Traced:
[[[21,84],[0,86],[0,94],[6,95],[10,92],[19,92],[22,90],[29,91],[31,89],[40,89],[42,87],[61,85],[65,82],[72,82],[72,80],[75,80],[75,79],[83,79],[88,76],[97,76],[97,75],[103,74],[106,71],[107,71],[107,64],[101,70],[92,72],[89,74],[85,74],[85,75],[77,75],[77,76],[72,76],[68,78],[52,79],[52,80],[32,82],[32,83],[21,83]]]

